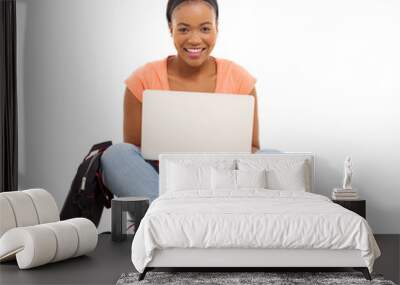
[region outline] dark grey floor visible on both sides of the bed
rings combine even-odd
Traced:
[[[375,236],[382,256],[374,272],[399,283],[400,235]],[[0,284],[115,284],[124,272],[134,271],[130,260],[131,240],[114,243],[111,236],[99,236],[99,243],[89,256],[81,256],[42,267],[19,270],[16,262],[0,265]]]

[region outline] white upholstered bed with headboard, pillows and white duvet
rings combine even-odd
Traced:
[[[160,197],[132,262],[154,268],[352,267],[371,279],[380,251],[361,216],[314,193],[310,153],[160,155]]]

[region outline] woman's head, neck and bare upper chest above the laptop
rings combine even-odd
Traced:
[[[210,54],[218,34],[216,2],[169,1],[167,20],[178,53],[176,57],[171,57],[168,66],[168,80],[171,79],[172,83],[170,88],[186,91],[195,88],[195,91],[214,92],[217,64]],[[192,88],[185,88],[185,83],[190,81],[197,84],[188,84]]]

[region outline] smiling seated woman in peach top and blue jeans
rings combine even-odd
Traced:
[[[158,196],[158,161],[145,161],[140,153],[146,89],[254,96],[252,151],[259,150],[256,79],[233,61],[211,56],[218,36],[217,1],[169,0],[166,16],[177,53],[139,67],[125,81],[125,143],[102,157],[105,183],[117,196]]]

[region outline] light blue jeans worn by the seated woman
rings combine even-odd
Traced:
[[[279,153],[263,149],[257,153]],[[118,197],[143,196],[150,202],[158,197],[158,165],[145,160],[140,149],[132,144],[110,146],[101,157],[104,183]]]

